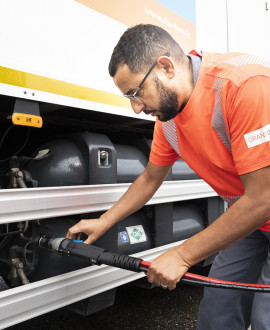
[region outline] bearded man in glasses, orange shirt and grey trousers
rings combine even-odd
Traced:
[[[231,207],[155,259],[149,282],[172,290],[190,266],[221,251],[211,277],[269,284],[269,64],[238,53],[186,56],[163,29],[138,25],[120,38],[109,72],[135,113],[157,117],[149,163],[110,210],[67,237],[84,232],[92,244],[140,209],[181,156]],[[269,310],[269,294],[208,288],[198,329],[247,329],[250,320],[253,330],[269,329]]]

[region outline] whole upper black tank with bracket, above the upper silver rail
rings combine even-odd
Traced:
[[[151,140],[133,145],[113,144],[104,134],[80,132],[42,145],[49,156],[27,163],[38,187],[131,183],[148,163]],[[193,180],[199,176],[179,159],[166,180]]]

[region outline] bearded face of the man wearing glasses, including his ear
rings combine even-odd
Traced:
[[[114,83],[123,94],[133,95],[136,92],[137,102],[130,99],[130,104],[136,114],[144,112],[147,115],[156,116],[161,121],[174,118],[186,105],[190,94],[191,85],[187,83],[187,77],[181,72],[176,78],[176,71],[171,65],[171,60],[162,57],[163,62],[157,62],[151,74],[144,81],[141,88],[138,86],[145,73],[132,73],[126,64],[120,66],[114,76]],[[179,78],[180,77],[180,78]],[[176,88],[181,93],[177,93]]]

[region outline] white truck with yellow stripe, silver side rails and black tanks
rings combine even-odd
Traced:
[[[121,34],[151,23],[186,52],[270,57],[268,6],[262,0],[0,0],[1,329],[63,306],[88,315],[113,304],[118,286],[147,285],[144,273],[73,261],[33,244],[99,216],[146,166],[154,121],[134,115],[108,74]],[[223,201],[179,160],[149,203],[95,245],[151,261],[222,212]]]

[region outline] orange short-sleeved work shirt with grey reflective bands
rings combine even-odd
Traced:
[[[203,53],[181,113],[157,119],[150,161],[182,157],[230,205],[244,193],[240,175],[270,165],[270,63],[240,53]],[[261,230],[270,231],[270,221]]]

